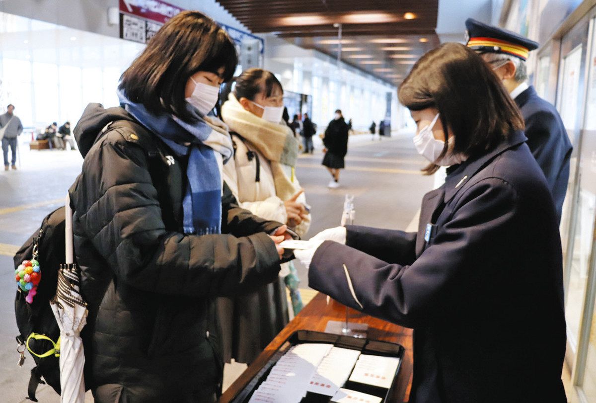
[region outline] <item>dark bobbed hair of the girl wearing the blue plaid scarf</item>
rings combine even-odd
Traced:
[[[224,29],[198,11],[182,11],[151,38],[147,47],[126,69],[119,88],[129,100],[154,114],[172,113],[194,121],[187,110],[185,89],[197,72],[218,74],[229,81],[238,57]]]

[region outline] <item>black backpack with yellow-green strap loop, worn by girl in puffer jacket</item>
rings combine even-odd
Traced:
[[[117,120],[110,122],[98,135],[107,131],[117,131],[120,135],[128,138],[131,131],[147,138],[146,129],[138,123],[128,120]],[[146,142],[139,142],[145,152],[153,153]],[[151,155],[150,155],[151,156]],[[14,255],[14,268],[18,268],[23,261],[35,259],[41,268],[41,280],[39,281],[37,293],[33,302],[25,300],[25,293],[17,287],[17,294],[14,299],[14,312],[17,320],[19,334],[16,337],[20,353],[18,365],[25,361],[25,351],[29,351],[35,361],[36,367],[31,370],[29,386],[27,388],[28,399],[36,402],[36,389],[41,383],[47,383],[60,395],[60,328],[54,312],[49,305],[56,294],[58,284],[58,270],[64,263],[66,255],[65,246],[65,207],[60,207],[49,213],[42,221],[39,230],[20,247]],[[43,378],[43,380],[42,380]],[[45,382],[44,382],[45,381]]]

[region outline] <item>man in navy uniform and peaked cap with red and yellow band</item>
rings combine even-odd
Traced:
[[[527,84],[527,56],[538,48],[538,43],[473,18],[465,21],[465,27],[468,47],[491,65],[522,111],[527,145],[547,178],[560,221],[572,145],[555,107],[540,98],[534,87]]]

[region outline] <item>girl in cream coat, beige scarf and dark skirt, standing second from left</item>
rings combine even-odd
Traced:
[[[246,70],[236,79],[221,110],[234,142],[224,180],[240,207],[284,222],[302,236],[311,215],[294,172],[298,141],[282,120],[283,93],[278,79],[263,69]],[[225,361],[252,362],[288,323],[285,286],[297,314],[302,308],[298,281],[293,264],[284,263],[278,281],[254,293],[218,300]]]

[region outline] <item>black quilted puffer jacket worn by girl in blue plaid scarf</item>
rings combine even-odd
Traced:
[[[86,385],[98,402],[214,401],[212,299],[277,278],[266,232],[281,224],[225,190],[225,234],[182,234],[185,161],[138,126],[117,129],[122,120],[135,123],[122,108],[90,104],[74,131],[85,157],[70,196],[89,303]]]

